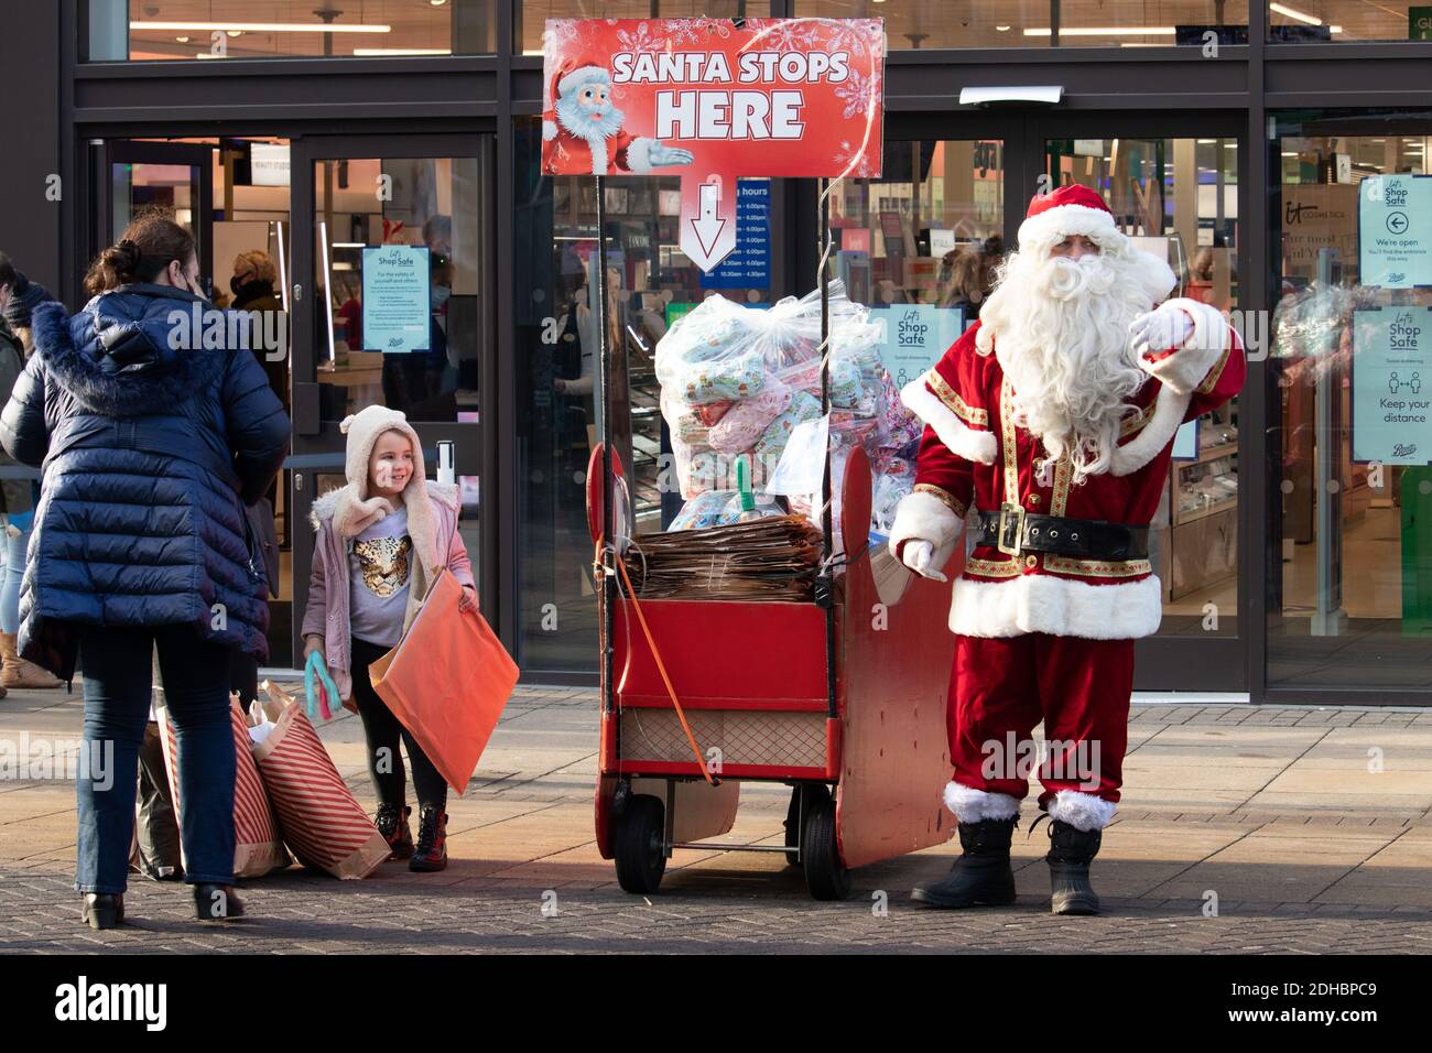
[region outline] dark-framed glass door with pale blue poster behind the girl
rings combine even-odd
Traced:
[[[401,410],[428,479],[450,443],[461,533],[495,617],[480,500],[495,450],[493,138],[312,136],[294,140],[294,506],[344,484],[341,421]],[[295,544],[299,603],[312,544]]]

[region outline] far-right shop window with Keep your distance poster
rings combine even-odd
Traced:
[[[1432,686],[1432,113],[1279,119],[1270,688]]]

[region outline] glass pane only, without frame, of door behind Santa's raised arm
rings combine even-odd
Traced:
[[[1236,139],[1054,139],[1055,186],[1098,191],[1134,244],[1169,261],[1174,297],[1239,305]],[[1236,636],[1239,400],[1190,421],[1174,440],[1150,529],[1163,585],[1161,636]]]

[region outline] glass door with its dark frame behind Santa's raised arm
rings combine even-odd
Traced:
[[[1177,278],[1171,295],[1237,311],[1239,274],[1247,274],[1239,258],[1239,123],[1187,117],[1176,123],[1177,135],[1169,125],[1167,115],[1032,115],[1024,159],[1034,176],[1030,191],[1071,183],[1097,191],[1124,234],[1169,261]],[[1011,199],[1015,222],[1028,199]],[[1247,689],[1242,638],[1249,626],[1239,612],[1246,607],[1242,542],[1250,534],[1239,484],[1257,479],[1240,480],[1239,466],[1257,461],[1240,456],[1246,438],[1237,398],[1179,433],[1150,537],[1163,623],[1140,642],[1140,689]]]

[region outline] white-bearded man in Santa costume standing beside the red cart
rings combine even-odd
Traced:
[[[964,852],[921,903],[1014,901],[1010,838],[1042,719],[1053,910],[1098,911],[1088,868],[1118,802],[1134,640],[1163,613],[1148,523],[1179,425],[1244,374],[1223,315],[1164,301],[1173,285],[1094,191],[1035,196],[979,321],[901,393],[927,427],[891,549],[945,580],[965,530],[972,543],[952,585],[944,794]]]

